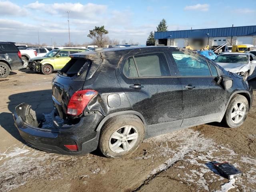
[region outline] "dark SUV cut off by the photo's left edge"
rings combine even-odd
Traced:
[[[15,43],[0,41],[0,78],[6,78],[11,70],[22,67],[21,54]]]

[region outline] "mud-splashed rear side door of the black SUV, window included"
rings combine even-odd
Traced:
[[[164,51],[124,56],[116,76],[134,111],[140,112],[153,136],[180,128],[182,87],[174,78]]]

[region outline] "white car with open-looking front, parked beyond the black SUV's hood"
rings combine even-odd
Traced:
[[[243,76],[245,80],[256,76],[256,56],[250,53],[226,52],[214,59],[225,70]]]

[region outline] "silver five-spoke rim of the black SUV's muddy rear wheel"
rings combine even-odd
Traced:
[[[126,152],[136,144],[138,136],[138,130],[134,126],[123,126],[111,135],[109,148],[115,153]]]

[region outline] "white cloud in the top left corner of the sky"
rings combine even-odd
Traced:
[[[10,2],[10,1],[0,1],[1,16],[4,15],[26,15],[27,12],[24,8]]]

